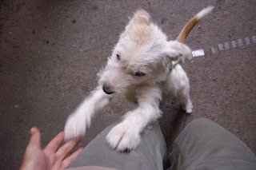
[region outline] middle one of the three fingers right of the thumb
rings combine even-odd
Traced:
[[[70,140],[66,142],[61,148],[58,148],[56,152],[56,157],[59,160],[63,160],[65,156],[80,142],[80,140]]]

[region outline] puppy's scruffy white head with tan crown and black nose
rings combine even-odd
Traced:
[[[166,34],[150,22],[145,10],[137,10],[120,35],[105,69],[99,73],[99,84],[105,93],[126,93],[138,85],[164,81],[170,61],[190,57],[188,46],[167,41]]]

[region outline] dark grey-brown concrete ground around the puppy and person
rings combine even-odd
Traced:
[[[233,132],[256,153],[256,48],[254,43],[209,52],[211,47],[256,34],[254,0],[206,1],[0,1],[1,169],[18,169],[29,130],[42,132],[42,147],[62,131],[66,117],[97,85],[97,72],[138,8],[174,39],[203,7],[214,5],[187,44],[206,56],[186,61],[194,112],[178,101],[162,104],[159,120],[168,151],[190,121],[206,117]],[[245,44],[245,42],[244,42]],[[79,146],[136,105],[115,99],[92,122]]]

